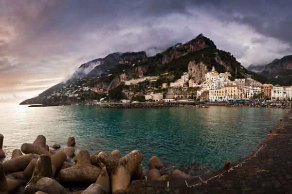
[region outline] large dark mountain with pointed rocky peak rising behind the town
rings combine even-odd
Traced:
[[[217,49],[212,40],[199,34],[185,44],[178,43],[148,58],[146,53],[141,51],[112,53],[104,59],[95,59],[81,65],[65,86],[64,83],[57,84],[53,87],[58,89],[52,88],[45,91],[45,94],[40,94],[37,99],[28,99],[22,104],[36,103],[37,100],[38,103],[43,101],[50,105],[72,104],[102,97],[110,100],[132,99],[151,92],[163,92],[165,96],[171,92],[179,94],[183,92],[180,89],[162,89],[162,83],[167,82],[169,85],[170,82],[178,80],[183,72],[188,72],[196,83],[201,83],[212,66],[215,66],[219,73],[229,72],[230,80],[252,78],[262,83],[269,82],[244,68],[230,52]],[[155,79],[137,85],[125,85],[126,81],[146,76]],[[98,88],[102,93],[91,92],[89,87]]]

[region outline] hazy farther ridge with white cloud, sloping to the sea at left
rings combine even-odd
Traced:
[[[44,98],[53,94],[56,90],[61,89],[66,84],[71,84],[79,78],[83,77],[96,77],[102,73],[105,73],[109,68],[118,65],[119,63],[124,63],[124,61],[130,62],[138,62],[139,60],[143,60],[146,58],[146,52],[115,52],[111,53],[105,58],[99,58],[92,60],[88,63],[82,64],[78,67],[78,69],[72,74],[71,78],[65,82],[58,83],[51,88],[45,90],[37,97],[33,97],[30,99],[26,99],[22,101],[20,104],[41,104]]]

